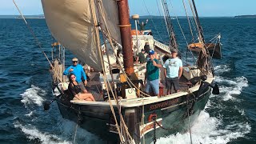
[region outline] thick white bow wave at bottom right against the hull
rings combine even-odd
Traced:
[[[194,144],[219,144],[227,143],[232,139],[244,137],[250,133],[251,127],[247,122],[234,123],[222,127],[222,118],[210,117],[206,111],[202,111],[194,126],[191,127],[192,142]],[[165,138],[159,138],[157,143],[161,144],[180,144],[190,143],[190,133],[172,134]]]

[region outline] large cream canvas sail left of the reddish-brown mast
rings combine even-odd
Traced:
[[[51,34],[79,60],[96,70],[102,70],[93,18],[91,0],[42,0],[47,26]],[[96,6],[95,6],[96,7]],[[101,13],[95,12],[98,15]],[[104,0],[103,13],[111,37],[121,42],[118,11],[113,0]],[[97,16],[98,19],[102,19]],[[102,29],[106,29],[102,26]]]

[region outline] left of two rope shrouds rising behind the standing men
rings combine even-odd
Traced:
[[[166,26],[167,26],[167,30],[168,33],[170,34],[170,47],[174,48],[174,49],[178,49],[178,44],[177,44],[177,40],[174,34],[174,26],[171,23],[170,20],[170,14],[169,14],[169,10],[166,4],[166,0],[162,0],[162,6],[163,6],[163,10],[165,12],[165,19],[166,19]]]

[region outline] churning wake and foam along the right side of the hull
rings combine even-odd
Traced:
[[[233,139],[244,137],[251,130],[245,111],[239,105],[242,99],[238,97],[242,89],[248,86],[247,79],[243,76],[238,78],[220,76],[228,73],[231,70],[230,66],[216,66],[214,70],[217,74],[215,82],[218,83],[220,94],[210,95],[206,109],[199,114],[194,126],[191,127],[192,142],[196,144],[231,142]],[[172,134],[159,138],[157,143],[190,143],[190,133]]]

